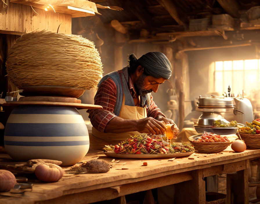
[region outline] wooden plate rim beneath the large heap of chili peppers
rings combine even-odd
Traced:
[[[115,152],[104,152],[106,156],[116,157],[116,158],[125,158],[125,159],[155,159],[155,158],[174,158],[174,157],[183,157],[189,156],[194,152],[186,153],[175,153],[175,154],[115,154]]]

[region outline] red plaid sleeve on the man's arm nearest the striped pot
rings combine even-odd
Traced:
[[[103,110],[88,110],[91,124],[100,132],[104,132],[106,124],[116,115],[113,113],[117,97],[115,82],[111,78],[103,81],[94,98],[95,105],[101,105]]]

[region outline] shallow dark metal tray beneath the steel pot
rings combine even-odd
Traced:
[[[231,128],[212,128],[210,126],[199,126],[194,125],[195,130],[198,133],[204,133],[204,132],[212,132],[219,135],[228,135],[228,134],[236,134],[238,128],[231,127]]]

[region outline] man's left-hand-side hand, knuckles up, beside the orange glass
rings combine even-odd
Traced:
[[[165,124],[152,117],[137,121],[137,131],[140,133],[164,134]]]

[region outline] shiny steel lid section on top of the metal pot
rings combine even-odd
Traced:
[[[233,100],[230,97],[212,95],[208,98],[198,99],[198,108],[234,108]]]

